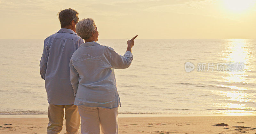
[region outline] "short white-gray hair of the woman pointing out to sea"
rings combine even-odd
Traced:
[[[91,18],[80,20],[76,24],[76,33],[84,40],[89,39],[96,30],[95,22]]]

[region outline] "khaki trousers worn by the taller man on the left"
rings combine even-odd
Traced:
[[[49,104],[47,134],[59,134],[63,127],[65,110],[67,134],[79,134],[80,115],[77,106]]]

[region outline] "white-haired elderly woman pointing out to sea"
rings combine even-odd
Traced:
[[[92,19],[76,24],[76,33],[85,43],[70,60],[70,79],[76,96],[74,105],[81,116],[82,134],[118,133],[119,95],[116,89],[115,69],[128,68],[132,63],[133,37],[127,41],[124,56],[111,47],[97,43],[99,33]],[[121,105],[120,105],[121,106]]]

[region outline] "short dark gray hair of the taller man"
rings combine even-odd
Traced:
[[[75,9],[71,9],[71,8],[61,10],[58,13],[58,17],[60,20],[60,27],[64,28],[64,27],[70,25],[70,22],[72,20],[74,20],[76,23],[79,20],[78,14],[79,13]]]

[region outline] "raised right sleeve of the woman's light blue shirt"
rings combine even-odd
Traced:
[[[113,48],[108,47],[109,49],[109,58],[110,58],[110,64],[112,68],[115,69],[124,69],[130,67],[133,60],[132,52],[126,51],[124,53],[124,56],[119,55],[114,51]]]

